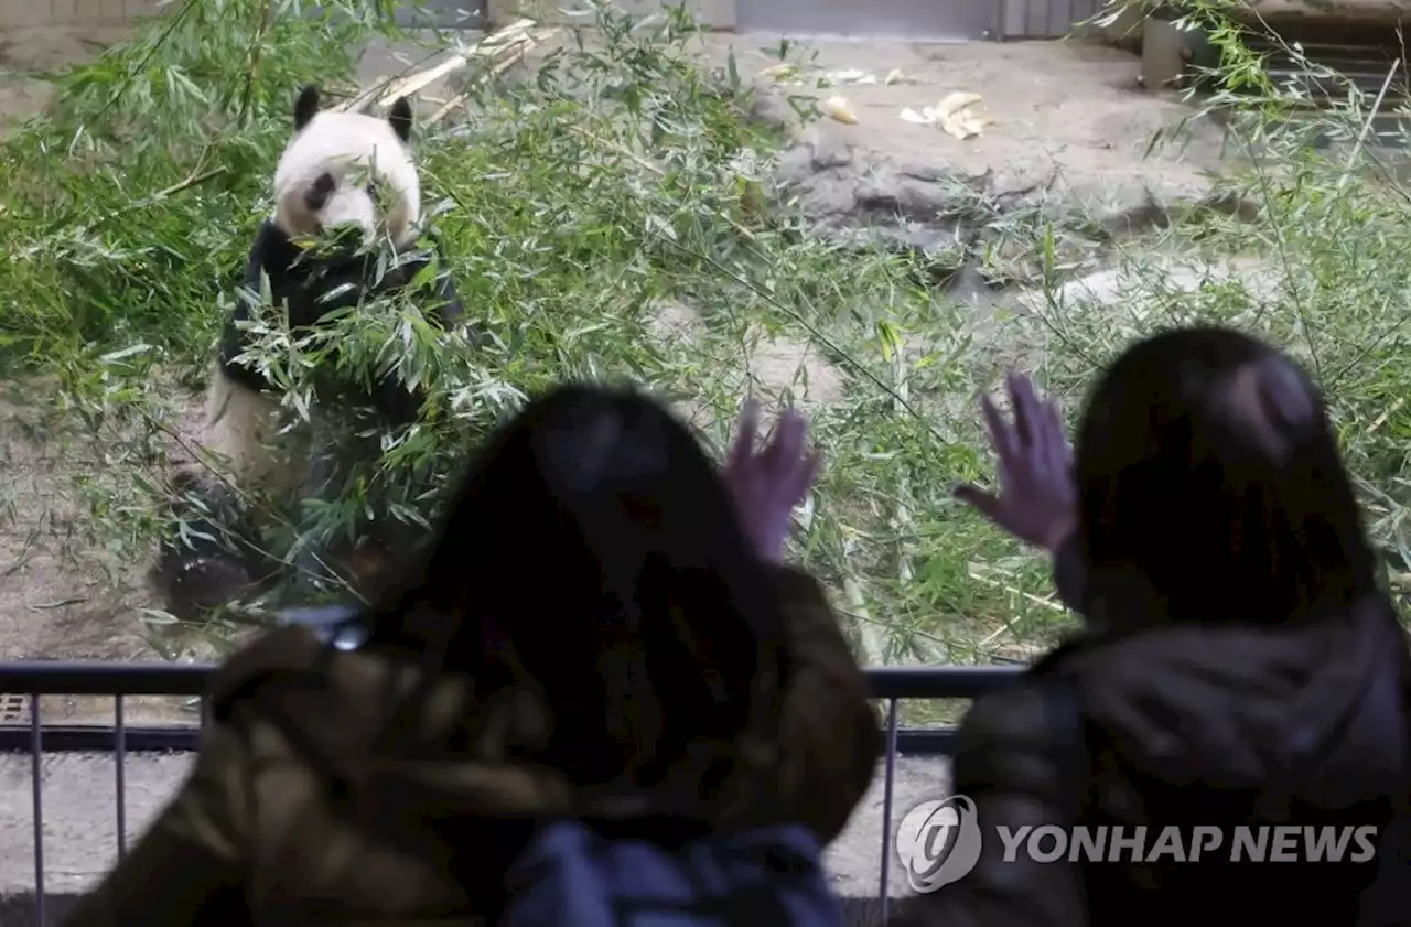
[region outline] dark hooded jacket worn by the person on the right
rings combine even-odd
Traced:
[[[1060,587],[1072,591],[1068,580]],[[1376,861],[1236,865],[1228,851],[1240,824],[1391,820],[1405,794],[1405,665],[1404,632],[1381,597],[1281,626],[1078,636],[965,717],[954,792],[975,803],[979,861],[904,902],[893,923],[1356,923]],[[996,827],[1068,824],[1120,824],[1129,835],[1144,825],[1147,848],[1167,825],[1187,841],[1195,827],[1222,828],[1225,842],[1201,862],[1133,864],[1130,851],[1119,862],[1003,859]]]

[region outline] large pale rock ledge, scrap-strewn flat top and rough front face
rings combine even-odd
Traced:
[[[728,40],[717,41],[722,52]],[[756,117],[789,140],[776,171],[782,207],[832,241],[920,253],[951,289],[975,288],[976,274],[955,272],[967,268],[991,288],[1033,282],[1033,237],[1047,222],[1060,264],[1081,271],[1112,241],[1191,210],[1250,213],[1212,192],[1223,128],[1141,90],[1129,54],[1082,42],[817,41],[790,69],[763,48],[735,42],[735,66],[758,86]],[[903,119],[957,92],[981,95],[992,123],[979,135]],[[799,119],[809,100],[830,96],[856,121]],[[1154,137],[1168,141],[1153,148]]]

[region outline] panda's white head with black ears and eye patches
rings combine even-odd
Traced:
[[[364,240],[385,234],[405,246],[416,237],[422,186],[406,97],[387,119],[320,111],[310,85],[293,106],[293,133],[274,172],[274,220],[285,234],[354,226]]]

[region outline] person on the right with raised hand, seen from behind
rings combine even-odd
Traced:
[[[1075,474],[1055,409],[1027,380],[1010,392],[1015,425],[985,404],[999,495],[958,495],[1054,553],[1085,629],[967,715],[954,786],[979,862],[895,923],[1357,923],[1377,862],[1311,862],[1302,827],[1380,831],[1404,807],[1407,646],[1316,389],[1243,334],[1160,334],[1098,384]],[[996,827],[1071,824],[1223,844],[1002,858]],[[1242,824],[1298,825],[1298,861],[1232,864]]]

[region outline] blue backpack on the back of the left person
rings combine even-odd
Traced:
[[[842,927],[818,840],[779,824],[659,841],[580,820],[536,828],[499,927]]]

